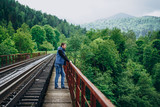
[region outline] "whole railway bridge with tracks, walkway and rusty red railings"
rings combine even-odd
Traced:
[[[114,107],[73,63],[64,66],[69,89],[54,89],[55,56],[45,52],[0,56],[0,106]]]

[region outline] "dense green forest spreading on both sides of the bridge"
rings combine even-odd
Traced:
[[[15,0],[1,0],[0,55],[56,50],[66,54],[117,107],[160,107],[160,31],[136,37],[132,30],[69,24]]]

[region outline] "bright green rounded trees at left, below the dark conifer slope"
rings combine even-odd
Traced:
[[[53,51],[57,48],[59,37],[64,36],[49,25],[35,25],[30,29],[25,23],[16,32],[12,32],[12,35],[10,33],[10,30],[0,26],[0,55]]]

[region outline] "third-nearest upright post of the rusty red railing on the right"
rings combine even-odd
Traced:
[[[79,95],[80,95],[80,78],[76,74],[76,107],[80,107],[80,105],[79,105]]]

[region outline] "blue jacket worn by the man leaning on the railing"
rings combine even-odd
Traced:
[[[56,55],[56,60],[55,60],[55,66],[58,65],[66,65],[66,61],[64,58],[62,58],[59,53],[58,53],[58,50],[62,50],[63,54],[65,55],[65,50],[60,46],[58,47],[57,49],[57,55]]]

